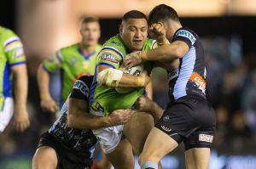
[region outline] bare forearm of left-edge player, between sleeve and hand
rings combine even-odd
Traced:
[[[18,69],[14,71],[15,78],[15,106],[18,109],[26,109],[27,98],[27,72],[26,65],[16,65]]]

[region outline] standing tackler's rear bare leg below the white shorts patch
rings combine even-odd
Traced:
[[[210,161],[210,148],[193,148],[185,151],[187,169],[207,169]]]

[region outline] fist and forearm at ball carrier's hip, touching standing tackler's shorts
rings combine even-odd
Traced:
[[[154,117],[154,123],[160,120],[164,110],[147,96],[141,96],[136,102],[137,110],[149,112]]]

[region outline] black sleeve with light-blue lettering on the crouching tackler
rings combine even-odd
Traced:
[[[88,102],[92,80],[93,76],[81,76],[76,82],[74,82],[69,98],[83,99]]]

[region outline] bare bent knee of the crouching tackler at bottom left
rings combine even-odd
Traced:
[[[32,159],[32,169],[55,169],[57,165],[55,149],[49,146],[38,148]]]

